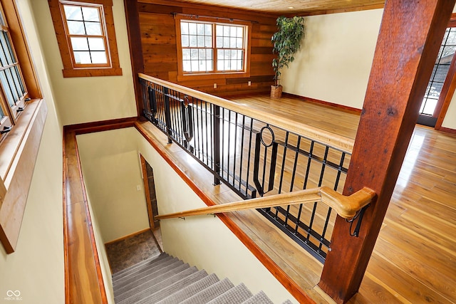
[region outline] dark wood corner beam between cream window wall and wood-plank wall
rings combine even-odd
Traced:
[[[140,16],[138,13],[137,0],[124,0],[125,18],[127,19],[128,43],[130,44],[131,69],[133,73],[133,86],[135,88],[136,109],[138,117],[142,116],[141,85],[138,73],[144,73],[144,61],[142,58],[142,43],[140,30]]]

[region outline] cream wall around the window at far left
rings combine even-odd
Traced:
[[[36,159],[16,252],[0,246],[0,303],[7,290],[19,290],[17,303],[64,303],[62,133],[55,99],[35,31],[32,0],[17,1],[33,62],[48,105],[48,115]],[[16,302],[16,301],[14,301]]]

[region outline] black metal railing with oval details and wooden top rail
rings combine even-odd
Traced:
[[[243,199],[326,186],[341,192],[353,141],[140,74],[143,114]],[[324,204],[258,211],[319,261],[336,213]]]

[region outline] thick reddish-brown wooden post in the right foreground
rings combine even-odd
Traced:
[[[378,194],[359,237],[338,217],[318,284],[337,303],[361,285],[455,0],[387,0],[343,194]]]

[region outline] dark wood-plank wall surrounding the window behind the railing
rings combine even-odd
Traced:
[[[271,36],[276,16],[162,0],[139,0],[138,13],[145,74],[219,96],[269,92],[274,84]],[[252,21],[250,77],[178,81],[173,13]]]

